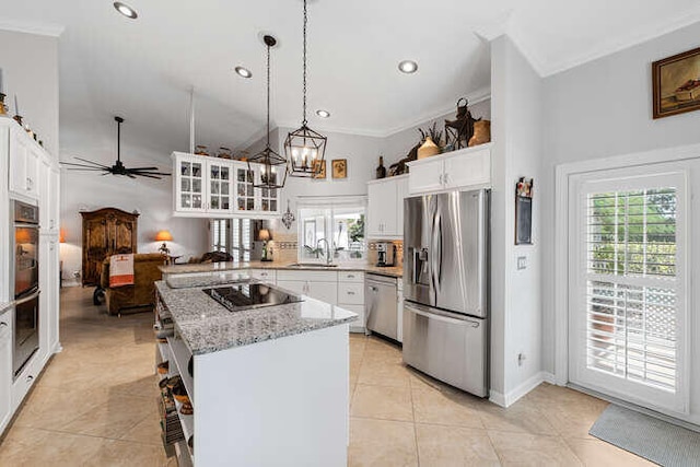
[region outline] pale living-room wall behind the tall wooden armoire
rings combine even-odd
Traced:
[[[116,124],[112,115],[104,115],[95,126],[109,127],[114,137],[95,138],[88,128],[82,133],[71,136],[62,143],[61,160],[77,162],[73,156],[97,161],[105,165],[116,160]],[[91,127],[89,127],[91,128]],[[129,128],[121,129],[121,157],[129,166],[158,166],[161,172],[171,173],[171,151],[168,141],[151,142],[150,148],[140,142],[132,144]],[[109,131],[107,130],[107,133]],[[116,175],[101,175],[97,172],[61,171],[61,230],[66,243],[61,245],[63,279],[71,283],[75,271],[82,271],[82,217],[80,211],[101,208],[118,208],[127,212],[140,213],[138,221],[138,252],[155,253],[161,243],[153,241],[160,230],[168,230],[173,242],[167,242],[172,255],[182,255],[180,260],[199,256],[209,249],[207,222],[201,219],[173,218],[173,180],[165,176],[161,180],[138,177],[131,179]]]

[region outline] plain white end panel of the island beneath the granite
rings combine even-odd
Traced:
[[[348,325],[195,357],[196,466],[347,466]]]

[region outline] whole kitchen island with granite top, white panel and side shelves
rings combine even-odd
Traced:
[[[194,407],[191,416],[178,410],[194,442],[177,444],[180,464],[347,465],[348,326],[357,315],[307,296],[231,312],[205,289],[201,277],[156,282],[159,316],[175,325],[158,360],[180,375]]]

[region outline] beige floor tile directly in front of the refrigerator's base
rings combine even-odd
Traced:
[[[463,394],[413,389],[413,416],[418,423],[482,429],[476,402]]]

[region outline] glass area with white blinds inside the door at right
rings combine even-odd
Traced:
[[[590,192],[587,367],[678,389],[677,190]]]

